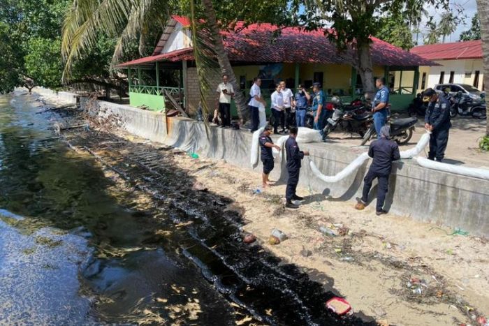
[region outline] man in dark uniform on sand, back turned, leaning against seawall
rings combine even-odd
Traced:
[[[389,184],[389,175],[391,175],[392,162],[401,158],[399,153],[399,147],[395,142],[389,140],[389,133],[391,128],[389,126],[383,126],[380,129],[380,136],[378,140],[374,140],[370,144],[368,149],[368,156],[373,158],[372,165],[363,179],[363,193],[362,198],[356,198],[358,204],[356,209],[364,209],[367,206],[368,193],[372,188],[372,181],[377,178],[377,209],[376,214],[382,215],[387,212],[384,211],[384,201],[386,200],[386,193]]]

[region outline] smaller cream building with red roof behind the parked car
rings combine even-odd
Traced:
[[[420,45],[412,48],[411,53],[438,64],[420,67],[420,91],[446,83],[484,89],[481,40]]]

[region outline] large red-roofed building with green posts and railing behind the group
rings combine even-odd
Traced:
[[[198,78],[194,62],[193,43],[187,17],[173,16],[163,29],[161,38],[151,56],[119,64],[127,68],[130,80],[131,105],[148,102],[148,96],[162,96],[169,91],[182,101],[183,106],[195,110],[200,101]],[[361,82],[356,73],[356,55],[353,50],[338,52],[323,30],[305,31],[299,27],[280,29],[273,24],[245,25],[238,22],[233,29],[221,31],[224,47],[233,66],[240,88],[247,91],[254,77],[262,78],[262,94],[278,80],[285,80],[289,88],[306,87],[320,82],[328,95],[356,96]],[[418,88],[418,67],[434,63],[412,52],[372,38],[374,76],[388,77],[393,88],[393,107],[406,105]],[[168,72],[173,70],[173,80]],[[178,71],[178,75],[175,75]],[[404,72],[397,77],[395,72]],[[407,78],[406,76],[411,76]],[[220,81],[215,76],[216,85]],[[166,79],[166,80],[165,80]],[[148,82],[152,82],[151,86]],[[173,82],[173,84],[172,84]],[[147,96],[143,96],[146,94]],[[210,94],[216,98],[214,92]],[[211,101],[213,103],[215,101]],[[161,109],[161,100],[156,101]],[[146,104],[147,105],[147,104]]]

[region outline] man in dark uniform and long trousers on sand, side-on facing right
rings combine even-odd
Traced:
[[[300,160],[304,156],[309,155],[309,151],[301,151],[299,145],[295,141],[297,137],[297,127],[291,127],[289,131],[290,135],[285,142],[285,149],[287,153],[287,171],[289,172],[289,179],[287,180],[287,188],[285,191],[285,199],[287,208],[299,208],[297,205],[293,204],[292,200],[302,200],[304,198],[295,195],[295,190],[297,189],[297,184],[299,183],[299,172],[300,172]]]

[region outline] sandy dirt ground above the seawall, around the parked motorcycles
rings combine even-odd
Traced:
[[[418,124],[416,124],[413,138],[411,138],[409,144],[402,147],[407,148],[416,145],[421,135],[425,133],[423,121],[423,117],[418,117]],[[489,168],[489,153],[479,151],[480,138],[486,133],[486,120],[457,116],[451,122],[452,128],[448,136],[445,162],[455,165],[468,165],[474,168]],[[351,133],[343,133],[341,131],[331,133],[328,140],[337,145],[348,147],[357,147],[361,141],[359,135],[351,135]],[[426,151],[428,156],[428,148]]]

